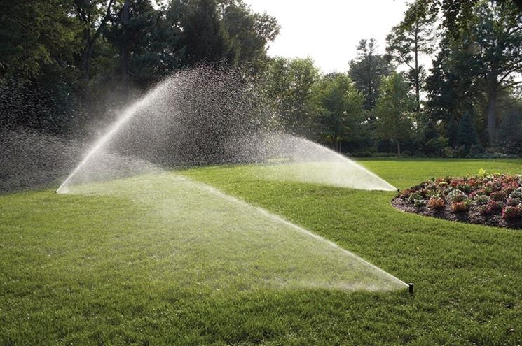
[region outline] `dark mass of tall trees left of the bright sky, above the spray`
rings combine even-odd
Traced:
[[[261,73],[278,32],[242,0],[0,0],[0,126],[84,134],[187,66]]]

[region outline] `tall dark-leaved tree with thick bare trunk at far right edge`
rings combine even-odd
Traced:
[[[483,78],[488,97],[488,136],[495,143],[497,130],[497,99],[503,90],[522,81],[515,76],[522,72],[522,13],[511,2],[482,0],[474,7],[469,36],[464,47],[471,50],[474,73]]]

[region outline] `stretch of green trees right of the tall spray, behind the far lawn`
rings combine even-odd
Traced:
[[[385,53],[363,39],[348,71],[334,75],[320,75],[310,59],[276,59],[269,88],[284,100],[288,129],[350,154],[521,154],[518,5],[413,1]]]

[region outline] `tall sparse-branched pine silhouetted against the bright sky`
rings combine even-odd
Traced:
[[[434,23],[437,17],[428,10],[427,0],[412,3],[404,20],[388,34],[386,51],[399,64],[408,66],[411,84],[415,89],[417,113],[420,112],[420,91],[425,79],[424,67],[419,63],[420,55],[434,51]]]

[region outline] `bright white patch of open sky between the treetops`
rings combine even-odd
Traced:
[[[244,0],[255,12],[277,18],[280,35],[270,56],[312,57],[324,73],[348,70],[362,38],[381,52],[390,29],[406,10],[404,0]]]

